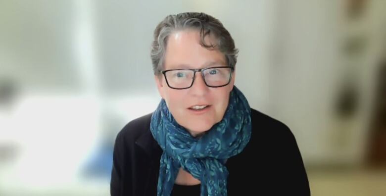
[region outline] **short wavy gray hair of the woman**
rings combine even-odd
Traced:
[[[200,32],[200,45],[207,49],[221,51],[231,67],[236,66],[238,49],[231,34],[216,18],[197,12],[185,12],[166,16],[154,30],[154,41],[151,45],[150,57],[154,75],[159,75],[164,66],[164,56],[169,36],[179,30],[197,29]],[[206,45],[204,39],[213,33],[217,39],[216,45]]]

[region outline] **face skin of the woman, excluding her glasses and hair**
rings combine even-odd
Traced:
[[[227,66],[222,52],[202,47],[199,40],[199,32],[195,30],[183,30],[170,35],[164,58],[164,70]],[[215,44],[215,41],[214,37],[205,37],[206,44]],[[155,81],[161,97],[165,99],[175,120],[196,136],[209,130],[223,118],[235,83],[235,72],[232,74],[231,82],[219,88],[206,86],[201,72],[195,73],[193,86],[189,89],[169,88],[164,76],[162,78],[155,76]],[[207,105],[207,107],[202,110],[193,110],[192,107],[195,105]]]

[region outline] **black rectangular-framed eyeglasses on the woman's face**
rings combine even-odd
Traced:
[[[166,84],[172,89],[189,89],[193,86],[195,72],[201,72],[205,85],[223,87],[231,82],[233,67],[220,66],[202,69],[169,69],[162,71]]]

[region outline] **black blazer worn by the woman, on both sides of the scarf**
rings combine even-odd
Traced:
[[[156,196],[162,149],[150,132],[147,114],[117,135],[111,196]],[[295,138],[282,122],[252,109],[252,135],[244,150],[228,159],[229,196],[309,196],[310,189]]]

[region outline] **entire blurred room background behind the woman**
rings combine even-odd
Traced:
[[[206,12],[236,85],[296,137],[313,196],[386,195],[386,0],[0,0],[0,196],[107,196],[114,139],[160,97],[166,15]]]

